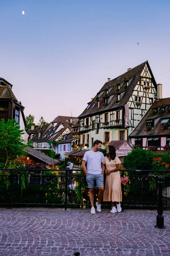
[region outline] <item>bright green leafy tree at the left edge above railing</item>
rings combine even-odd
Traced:
[[[23,139],[21,135],[24,134],[20,130],[20,126],[14,119],[0,121],[0,167],[10,166],[10,162],[17,157],[22,157],[26,154],[24,150]]]

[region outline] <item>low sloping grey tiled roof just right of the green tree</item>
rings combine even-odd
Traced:
[[[53,159],[51,157],[48,157],[47,155],[45,155],[44,153],[36,150],[35,148],[32,147],[26,147],[26,150],[28,152],[28,154],[30,155],[30,157],[34,157],[37,160],[40,160],[41,163],[44,164],[54,164],[54,165],[58,165],[59,161],[56,159]]]

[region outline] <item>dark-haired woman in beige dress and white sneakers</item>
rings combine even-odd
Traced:
[[[103,163],[106,166],[105,174],[105,191],[103,201],[111,201],[111,213],[121,212],[120,202],[122,201],[121,181],[120,181],[120,164],[119,157],[116,157],[116,149],[114,146],[108,146]],[[117,209],[116,209],[117,206]]]

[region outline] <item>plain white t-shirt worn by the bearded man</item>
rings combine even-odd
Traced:
[[[102,152],[89,150],[85,152],[83,160],[87,162],[88,174],[101,174],[104,154]]]

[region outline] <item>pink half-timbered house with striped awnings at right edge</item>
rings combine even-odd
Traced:
[[[170,98],[156,99],[129,138],[135,148],[170,150]]]

